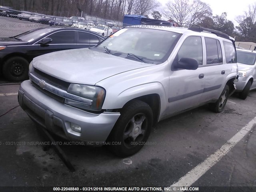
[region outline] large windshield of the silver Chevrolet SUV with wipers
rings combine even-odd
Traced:
[[[180,34],[149,28],[123,28],[97,47],[111,51],[132,53],[153,62],[164,62],[172,52]]]

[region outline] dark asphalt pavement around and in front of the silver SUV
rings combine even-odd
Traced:
[[[234,95],[222,113],[202,106],[159,122],[149,143],[128,158],[118,158],[106,147],[57,140],[76,169],[70,172],[53,148],[44,151],[36,143],[44,140],[18,106],[18,88],[19,85],[0,86],[0,115],[7,112],[0,116],[0,186],[175,185],[256,116],[256,91],[250,92],[246,100]],[[243,191],[253,191],[250,187],[256,186],[255,132],[252,126],[240,141],[230,143],[232,149],[209,166],[192,186],[246,186]]]

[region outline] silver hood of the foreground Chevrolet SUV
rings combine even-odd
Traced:
[[[52,52],[34,58],[38,70],[71,83],[94,85],[122,72],[154,66],[88,48]]]

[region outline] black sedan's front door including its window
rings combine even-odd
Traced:
[[[52,39],[52,42],[46,45],[38,45],[39,54],[46,54],[55,51],[75,49],[76,33],[72,30],[58,31],[47,36]]]

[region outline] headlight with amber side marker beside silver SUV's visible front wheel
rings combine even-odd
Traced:
[[[101,110],[106,95],[106,91],[103,88],[82,84],[70,84],[67,92],[91,100],[91,102],[86,104],[65,99],[66,104],[92,111]]]

